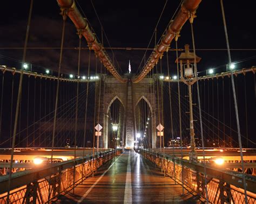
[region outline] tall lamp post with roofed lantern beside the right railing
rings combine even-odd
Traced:
[[[196,62],[201,58],[196,56]],[[185,52],[181,53],[176,59],[180,64],[180,80],[188,86],[188,98],[190,104],[190,161],[197,161],[196,143],[194,140],[194,119],[193,119],[193,102],[192,102],[192,88],[191,86],[197,81],[197,70],[193,67],[194,53],[189,50],[189,45],[185,45]],[[182,142],[182,141],[181,141]]]

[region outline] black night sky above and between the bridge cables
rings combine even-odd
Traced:
[[[100,24],[97,20],[91,1],[78,1],[87,19],[100,38]],[[177,9],[180,1],[168,1],[163,16],[157,27],[157,41]],[[30,1],[5,1],[1,11],[1,44],[0,47],[23,47],[26,22],[28,19]],[[147,47],[154,27],[160,16],[165,1],[93,1],[98,16],[103,24],[107,38],[112,47]],[[254,26],[255,1],[224,1],[227,29],[231,48],[256,48]],[[203,0],[194,19],[194,34],[196,48],[226,48],[223,21],[219,1]],[[62,17],[56,1],[35,1],[32,11],[32,22],[29,37],[29,47],[60,47]],[[179,48],[185,44],[192,45],[190,25],[187,22],[181,30],[178,42]],[[109,47],[104,37],[104,45]],[[75,26],[70,19],[65,32],[65,47],[78,47],[78,37]],[[83,45],[86,47],[86,41]],[[153,48],[154,40],[150,47]],[[174,48],[174,42],[171,47]],[[109,51],[108,51],[109,52]],[[147,53],[147,56],[151,52]],[[1,56],[22,59],[22,50],[0,50]],[[111,56],[111,52],[109,52]],[[114,51],[123,73],[127,72],[128,60],[131,60],[132,72],[135,73],[143,58],[144,51]],[[171,72],[175,72],[175,53],[169,53]],[[219,67],[227,63],[226,51],[198,51],[202,58],[198,65],[199,71],[210,67]],[[256,55],[256,51],[233,51],[232,61],[238,61]],[[56,70],[58,67],[59,50],[29,50],[26,60],[32,64]],[[76,74],[77,50],[65,50],[62,66],[63,73]],[[88,52],[82,52],[82,72],[86,72]],[[1,57],[2,65],[18,66],[12,60]],[[95,61],[95,60],[93,60]],[[166,61],[163,58],[163,61]],[[115,62],[117,64],[117,62]],[[255,59],[238,64],[238,68],[256,65]],[[93,62],[93,65],[95,63]],[[163,62],[163,72],[166,72]]]

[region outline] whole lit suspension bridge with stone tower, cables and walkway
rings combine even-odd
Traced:
[[[23,58],[0,65],[1,203],[256,202],[256,67],[232,61],[220,0],[227,63],[198,71],[200,3],[181,1],[159,41],[154,31],[154,48],[114,48],[77,1],[57,0],[61,43],[50,69],[26,60],[30,1]],[[64,46],[67,22],[77,47]],[[192,41],[180,45],[187,24]],[[62,71],[65,49],[78,55],[76,74]],[[122,72],[115,49],[145,51],[137,73]]]

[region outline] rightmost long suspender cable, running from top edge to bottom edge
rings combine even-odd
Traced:
[[[225,30],[226,43],[227,43],[228,63],[231,64],[232,61],[231,61],[231,54],[230,54],[230,44],[228,42],[227,26],[226,26],[223,0],[220,0],[220,5],[221,5],[221,12],[222,12],[222,16],[223,16],[223,24],[224,24],[224,30]],[[247,192],[246,192],[245,167],[244,167],[244,158],[242,155],[242,142],[241,142],[240,124],[239,124],[239,116],[238,116],[238,107],[237,107],[237,96],[235,95],[234,76],[233,76],[232,69],[230,70],[230,72],[231,72],[231,82],[232,82],[232,90],[233,90],[233,97],[234,97],[235,119],[237,121],[238,142],[239,142],[241,165],[242,165],[242,181],[244,184],[245,203],[247,204],[248,200],[247,200]]]

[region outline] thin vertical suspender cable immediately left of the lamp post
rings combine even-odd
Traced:
[[[178,59],[178,36],[176,33],[175,43],[176,43],[176,59]],[[182,129],[181,129],[181,109],[180,109],[180,80],[179,80],[179,62],[177,60],[177,79],[178,79],[178,100],[179,100],[179,137],[180,137],[180,148],[181,148],[181,180],[182,180],[182,194],[184,194],[184,172],[183,172],[183,145],[182,145]]]

